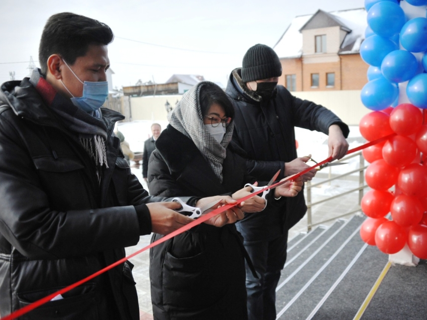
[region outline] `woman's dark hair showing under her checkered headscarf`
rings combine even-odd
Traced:
[[[213,103],[218,103],[224,108],[226,117],[234,118],[234,107],[227,93],[213,82],[206,82],[200,88],[200,109],[203,116]]]

